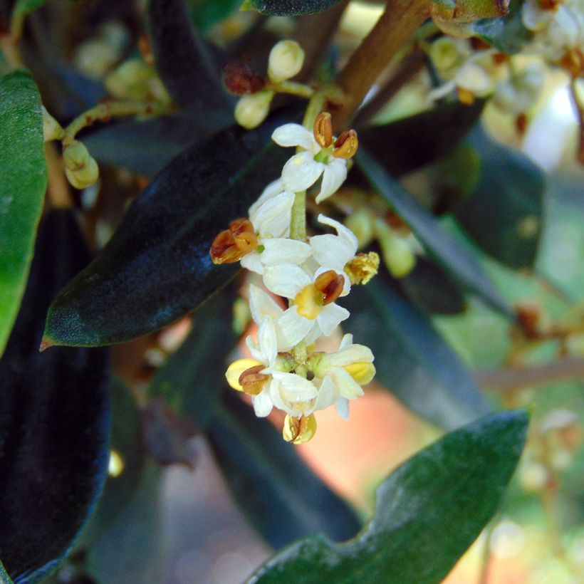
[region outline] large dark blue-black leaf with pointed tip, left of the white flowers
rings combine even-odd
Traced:
[[[290,153],[273,145],[276,115],[256,130],[224,130],[175,158],[140,194],[101,255],[53,302],[56,345],[135,338],[196,308],[236,272],[214,266],[209,246],[247,214]]]

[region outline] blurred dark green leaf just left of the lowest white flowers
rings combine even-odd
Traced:
[[[207,427],[225,387],[226,360],[236,336],[231,328],[233,296],[217,294],[194,313],[191,332],[156,372],[150,398],[163,397],[177,414]]]

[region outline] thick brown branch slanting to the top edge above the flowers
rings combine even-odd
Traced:
[[[385,12],[337,76],[345,102],[333,113],[335,131],[347,124],[380,73],[428,14],[429,0],[387,0]]]

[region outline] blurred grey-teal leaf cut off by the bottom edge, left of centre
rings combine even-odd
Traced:
[[[88,551],[87,570],[98,583],[160,584],[165,581],[161,509],[162,472],[158,466],[147,462],[138,488],[118,516],[107,528],[93,531],[84,541]],[[95,518],[99,522],[100,513],[98,508]]]

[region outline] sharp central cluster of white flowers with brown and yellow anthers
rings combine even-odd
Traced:
[[[288,299],[285,309],[264,289],[249,286],[251,316],[259,326],[257,340],[246,338],[251,358],[231,363],[226,378],[231,387],[251,395],[258,416],[268,415],[273,407],[286,412],[284,438],[298,444],[316,430],[313,412],[335,405],[347,417],[348,400],[363,395],[361,386],[375,375],[370,349],[353,344],[352,335],[345,335],[332,354],[316,352],[313,343],[348,318],[349,311],[335,301],[349,293],[352,281],[368,281],[377,265],[370,265],[375,264],[371,254],[355,256],[358,241],[353,232],[323,214],[318,221],[335,234],[303,241],[291,238],[296,193],[321,176],[317,202],[340,187],[347,158],[357,147],[355,132],[343,132],[333,140],[330,115],[323,113],[314,132],[286,124],[272,138],[300,152],[250,207],[249,219],[232,221],[221,231],[210,254],[216,264],[241,261],[262,276],[267,291]]]

